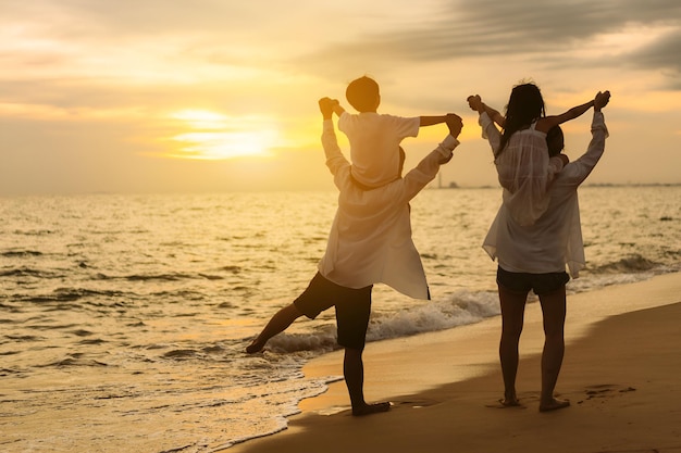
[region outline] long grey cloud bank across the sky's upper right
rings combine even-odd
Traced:
[[[475,56],[531,58],[541,53],[550,64],[553,60],[565,59],[566,51],[582,47],[590,50],[590,39],[598,35],[636,26],[667,25],[681,29],[681,2],[453,0],[433,16],[438,20],[329,45],[318,52],[301,55],[295,64],[331,77],[337,77],[338,73],[355,74],[367,67],[377,71],[409,63]],[[678,68],[681,54],[678,38],[677,32],[652,43],[649,53],[632,53],[629,56],[634,61],[630,63],[646,68],[669,67],[671,59],[674,62],[671,65]],[[569,62],[562,61],[562,64],[569,66]]]

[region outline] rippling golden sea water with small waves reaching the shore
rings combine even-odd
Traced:
[[[681,187],[580,189],[587,268],[569,292],[681,269]],[[376,286],[369,341],[498,316],[480,244],[497,188],[425,190],[432,301]],[[336,193],[0,198],[0,451],[212,452],[276,432],[338,375],[333,311],[244,348],[314,275]],[[568,299],[569,303],[569,299]],[[370,347],[370,345],[369,345]]]

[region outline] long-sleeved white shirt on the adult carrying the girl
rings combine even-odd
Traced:
[[[486,114],[481,115],[480,122],[494,148],[493,141],[500,139],[497,128]],[[504,198],[483,249],[492,260],[498,259],[505,270],[544,274],[564,272],[567,265],[573,278],[579,276],[585,259],[577,189],[605,150],[608,129],[602,112],[594,112],[591,134],[586,153],[567,164],[556,176],[547,210],[533,225],[516,222]]]

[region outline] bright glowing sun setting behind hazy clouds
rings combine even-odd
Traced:
[[[171,116],[190,129],[172,137],[179,142],[179,148],[168,154],[171,158],[225,160],[269,155],[269,149],[276,144],[280,136],[267,117],[230,117],[202,110],[181,111]]]

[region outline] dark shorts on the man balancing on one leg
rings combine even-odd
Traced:
[[[363,351],[372,288],[372,285],[360,289],[342,287],[317,273],[308,288],[294,301],[294,305],[310,319],[335,306],[338,344]]]

